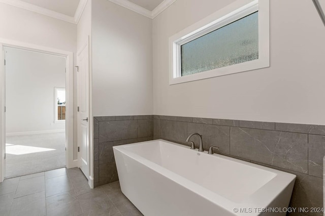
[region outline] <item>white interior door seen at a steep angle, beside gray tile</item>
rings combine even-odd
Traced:
[[[79,167],[89,180],[89,50],[88,41],[77,56],[78,93],[78,161]]]

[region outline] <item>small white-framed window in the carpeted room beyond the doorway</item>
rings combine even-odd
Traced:
[[[55,122],[66,120],[66,89],[54,88],[54,117]]]

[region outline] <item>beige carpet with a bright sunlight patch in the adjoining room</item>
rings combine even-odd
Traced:
[[[5,178],[66,166],[65,133],[6,137]]]

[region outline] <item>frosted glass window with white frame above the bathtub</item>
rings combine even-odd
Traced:
[[[238,0],[170,37],[170,84],[270,66],[269,1]]]

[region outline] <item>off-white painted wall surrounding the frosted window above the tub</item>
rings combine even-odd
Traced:
[[[325,124],[325,28],[312,1],[270,1],[271,67],[169,85],[168,38],[232,2],[178,0],[154,18],[154,114]]]

